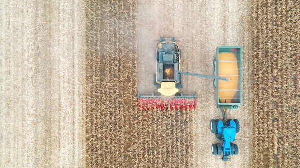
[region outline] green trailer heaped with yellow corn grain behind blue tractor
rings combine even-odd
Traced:
[[[218,108],[237,108],[238,105],[242,104],[241,58],[241,46],[221,46],[217,48],[214,74],[229,78],[228,81],[214,81]]]

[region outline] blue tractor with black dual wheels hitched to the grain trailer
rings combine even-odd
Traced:
[[[228,161],[229,155],[238,154],[238,146],[232,141],[235,140],[235,135],[239,132],[239,121],[237,119],[226,121],[224,112],[226,109],[221,109],[221,111],[223,120],[211,120],[210,130],[223,143],[212,144],[211,152],[213,155],[223,155],[222,160]]]

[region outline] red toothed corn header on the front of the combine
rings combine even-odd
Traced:
[[[196,109],[197,99],[179,98],[179,99],[157,99],[157,98],[138,98],[138,109],[168,109],[171,110],[190,110]]]

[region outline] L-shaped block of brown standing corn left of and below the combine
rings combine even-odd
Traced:
[[[136,1],[86,1],[86,167],[188,168],[192,111],[137,109]]]

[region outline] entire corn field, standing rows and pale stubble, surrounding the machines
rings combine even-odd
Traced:
[[[0,4],[1,168],[296,168],[300,4],[295,0],[31,0]],[[152,92],[159,37],[182,71],[213,73],[243,46],[239,155],[211,155],[220,119],[211,79],[183,76],[190,111],[137,110]]]

